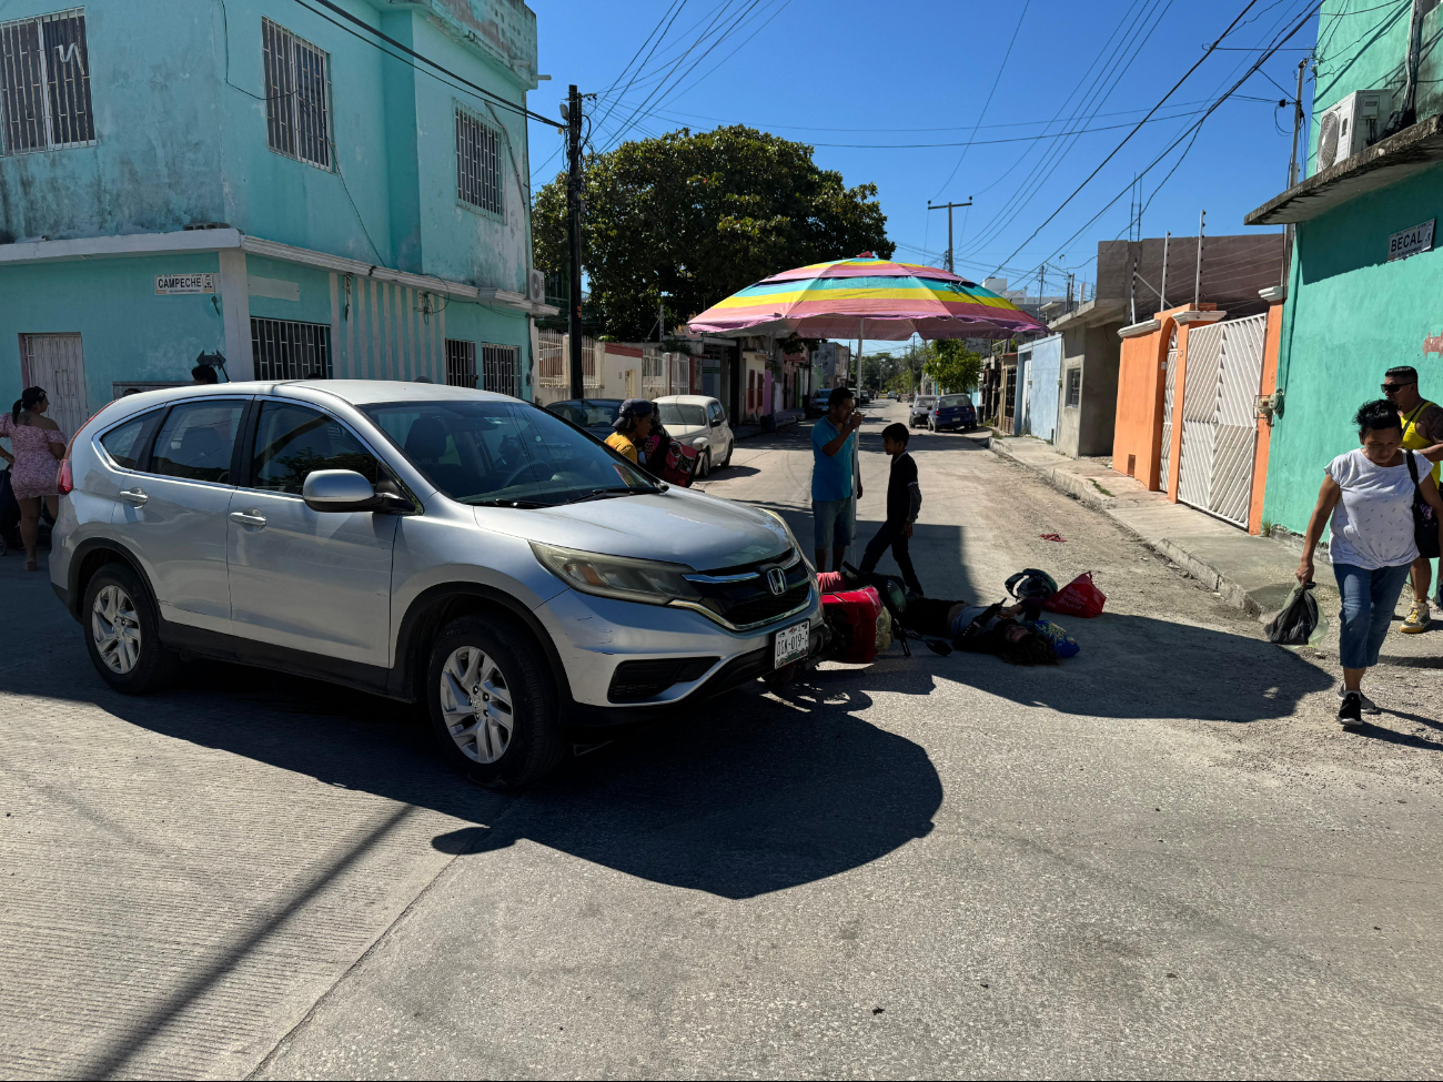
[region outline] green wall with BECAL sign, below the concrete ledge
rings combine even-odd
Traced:
[[[1323,466],[1358,446],[1352,414],[1381,397],[1387,368],[1416,366],[1443,401],[1443,251],[1387,263],[1390,234],[1430,218],[1443,218],[1443,164],[1299,224],[1264,525],[1306,529]]]

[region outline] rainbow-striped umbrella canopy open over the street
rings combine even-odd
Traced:
[[[709,335],[784,338],[1010,338],[1046,332],[1010,300],[915,263],[853,260],[782,271],[713,304],[688,326]]]

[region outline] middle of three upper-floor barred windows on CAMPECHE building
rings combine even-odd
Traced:
[[[270,149],[330,169],[330,53],[261,19]]]

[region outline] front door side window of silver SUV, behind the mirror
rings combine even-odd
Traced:
[[[372,485],[381,479],[381,463],[335,417],[306,405],[263,403],[251,488],[299,496],[312,470],[355,470]]]

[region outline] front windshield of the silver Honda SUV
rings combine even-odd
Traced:
[[[462,503],[554,506],[655,492],[631,463],[545,410],[508,401],[378,403],[365,414]]]

